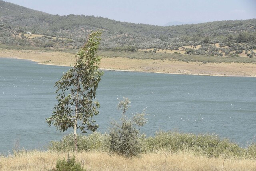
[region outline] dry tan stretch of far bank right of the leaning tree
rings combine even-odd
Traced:
[[[255,64],[180,62],[175,60],[139,60],[129,58],[103,58],[101,68],[172,74],[211,76],[256,76]]]

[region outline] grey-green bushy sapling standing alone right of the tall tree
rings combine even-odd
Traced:
[[[122,111],[121,123],[112,122],[113,127],[110,129],[110,152],[124,155],[126,157],[133,157],[141,152],[141,143],[139,141],[139,129],[146,123],[142,113],[137,113],[129,119],[125,113],[130,107],[130,100],[124,97],[117,105],[118,109]]]

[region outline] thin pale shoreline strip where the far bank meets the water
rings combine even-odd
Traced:
[[[65,66],[65,67],[71,67],[70,65],[62,65],[62,64],[45,64],[38,60],[34,59],[27,59],[27,58],[19,58],[19,57],[4,57],[0,56],[0,58],[14,58],[19,60],[30,60],[32,62],[36,62],[40,65],[51,65],[51,66]],[[220,76],[220,77],[256,77],[256,76],[241,76],[241,75],[217,75],[217,74],[193,74],[193,73],[176,73],[176,72],[152,72],[152,71],[138,71],[138,70],[122,70],[122,69],[109,69],[109,68],[99,68],[99,70],[104,71],[118,71],[118,72],[142,72],[142,73],[156,73],[156,74],[176,74],[176,75],[194,75],[194,76]]]

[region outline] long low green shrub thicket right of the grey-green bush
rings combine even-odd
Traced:
[[[158,132],[155,137],[143,139],[144,151],[159,151],[161,149],[172,152],[188,150],[208,157],[241,157],[245,150],[228,139],[220,139],[216,135],[194,135],[189,133]],[[255,156],[256,157],[256,156]]]

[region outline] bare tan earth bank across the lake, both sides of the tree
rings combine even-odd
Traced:
[[[72,66],[75,56],[66,52],[40,50],[0,50],[0,57],[33,60],[40,64]],[[100,63],[105,70],[156,72],[169,74],[194,74],[209,76],[256,76],[254,63],[206,63],[177,60],[151,60],[130,58],[105,58]]]

